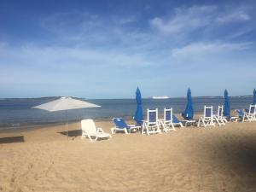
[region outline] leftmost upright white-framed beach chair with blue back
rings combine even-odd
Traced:
[[[142,134],[148,135],[154,133],[160,133],[160,124],[158,120],[158,109],[148,109],[147,120],[143,121]]]

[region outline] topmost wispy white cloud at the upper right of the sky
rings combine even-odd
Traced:
[[[241,7],[192,6],[175,9],[173,15],[154,17],[150,20],[153,29],[167,35],[189,35],[196,30],[222,29],[219,24],[251,20],[247,9]]]

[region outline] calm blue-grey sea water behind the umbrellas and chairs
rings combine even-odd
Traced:
[[[135,99],[94,99],[84,100],[101,105],[102,108],[82,108],[59,112],[48,112],[32,107],[55,100],[50,98],[34,99],[0,99],[0,127],[19,128],[23,125],[48,125],[72,122],[80,119],[112,119],[113,117],[131,118],[137,108]],[[81,99],[83,100],[83,99]],[[252,96],[230,97],[230,108],[248,108],[253,101]],[[186,106],[186,98],[143,99],[143,113],[147,108],[173,108],[174,113],[182,113]],[[223,97],[194,97],[195,113],[202,113],[204,105],[212,105],[217,110],[224,102]]]

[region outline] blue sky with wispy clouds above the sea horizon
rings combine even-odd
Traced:
[[[0,0],[0,97],[252,95],[256,1]]]

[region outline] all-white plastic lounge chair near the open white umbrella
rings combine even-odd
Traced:
[[[90,142],[95,142],[98,138],[111,137],[111,135],[107,132],[104,132],[102,128],[96,128],[96,125],[93,119],[81,120],[81,126],[82,126],[82,138],[89,137]]]

